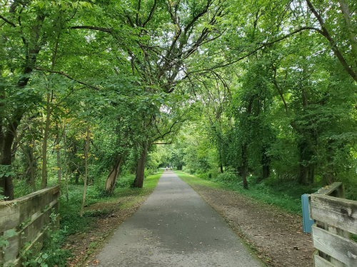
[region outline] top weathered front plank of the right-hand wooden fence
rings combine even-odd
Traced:
[[[357,201],[333,196],[310,196],[311,218],[357,234]]]

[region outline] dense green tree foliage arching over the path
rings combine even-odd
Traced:
[[[159,166],[356,188],[354,1],[0,1],[0,187]],[[181,133],[179,133],[179,131]],[[179,134],[178,134],[179,133]],[[68,192],[67,192],[68,195]]]

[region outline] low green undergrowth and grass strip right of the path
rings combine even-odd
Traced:
[[[199,184],[211,188],[223,188],[226,190],[235,191],[245,196],[255,198],[263,203],[272,204],[283,208],[290,213],[296,213],[302,216],[301,211],[301,195],[304,193],[313,193],[318,190],[318,186],[301,186],[292,181],[255,181],[249,182],[249,189],[243,188],[243,184],[239,181],[218,181],[217,179],[206,180],[198,178],[183,171],[175,171],[176,174],[188,184]],[[253,179],[252,179],[253,180]]]

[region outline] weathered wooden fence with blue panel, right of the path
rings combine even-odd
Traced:
[[[356,267],[357,201],[346,200],[342,183],[333,183],[311,194],[310,216],[315,267]]]

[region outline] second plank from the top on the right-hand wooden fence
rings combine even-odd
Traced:
[[[312,238],[313,246],[319,251],[336,258],[348,267],[357,266],[357,243],[329,233],[316,225],[312,227]]]

